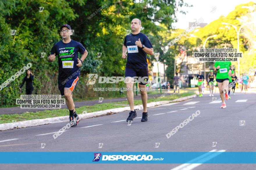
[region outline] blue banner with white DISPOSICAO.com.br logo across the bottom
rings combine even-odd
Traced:
[[[255,164],[256,152],[0,152],[0,163]]]

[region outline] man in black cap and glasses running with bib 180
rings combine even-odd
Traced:
[[[88,52],[83,45],[77,41],[70,39],[70,25],[61,26],[62,40],[57,42],[51,49],[49,61],[54,61],[58,55],[58,89],[61,96],[65,96],[67,107],[69,109],[69,120],[71,127],[74,127],[80,121],[72,98],[72,92],[77,85],[80,76],[80,68]],[[78,52],[82,54],[81,59],[78,59]]]

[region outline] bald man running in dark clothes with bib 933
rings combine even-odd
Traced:
[[[125,81],[127,90],[127,100],[131,111],[127,118],[127,122],[133,120],[137,114],[134,110],[134,98],[132,87],[134,85],[134,78],[138,77],[139,88],[141,93],[141,100],[143,105],[143,113],[141,122],[146,122],[148,119],[147,114],[147,91],[146,84],[148,81],[148,68],[147,68],[147,54],[153,55],[153,46],[147,36],[140,32],[141,20],[135,18],[131,21],[132,33],[125,36],[125,41],[122,46],[122,59],[127,58],[125,67]],[[126,54],[128,52],[128,55]],[[127,57],[128,56],[128,57]]]

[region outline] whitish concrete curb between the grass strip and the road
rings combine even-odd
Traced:
[[[172,102],[180,102],[180,101],[188,100],[195,97],[196,95],[194,94],[192,96],[186,96],[186,97],[182,97],[182,98],[178,98],[170,101],[151,102],[151,103],[147,103],[147,108],[164,105]],[[143,109],[143,105],[136,105],[134,106],[134,109],[135,110]],[[79,114],[79,118],[81,119],[95,118],[99,116],[111,115],[111,114],[115,114],[123,111],[129,111],[129,110],[130,110],[130,107],[118,107],[115,109],[107,109],[102,111]],[[23,127],[38,126],[38,125],[46,125],[51,123],[66,122],[68,118],[69,116],[61,116],[61,117],[54,117],[54,118],[25,120],[20,122],[13,122],[13,123],[2,123],[0,124],[0,131],[18,129]]]

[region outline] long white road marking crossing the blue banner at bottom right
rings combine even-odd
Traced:
[[[202,160],[202,163],[218,156],[219,154],[221,154],[221,152],[225,152],[226,150],[219,150],[219,151],[216,151],[216,149],[214,150],[211,150],[201,156],[198,156],[197,158],[195,159],[192,159],[190,160],[189,162],[195,162],[195,161],[198,161],[198,160]],[[211,152],[219,152],[219,153],[211,153]],[[192,170],[194,169],[195,167],[198,167],[199,165],[201,165],[202,163],[185,163],[185,164],[181,164],[171,170]]]

